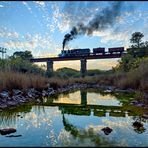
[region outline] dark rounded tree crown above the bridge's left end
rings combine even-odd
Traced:
[[[15,52],[14,54],[13,54],[13,57],[20,57],[20,58],[22,58],[23,60],[26,60],[26,59],[30,59],[30,58],[32,58],[33,56],[32,56],[32,54],[31,54],[31,51],[17,51],[17,52]]]

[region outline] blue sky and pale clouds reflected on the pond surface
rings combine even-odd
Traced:
[[[76,98],[76,102],[78,102],[80,92],[71,93],[71,97]],[[100,95],[97,96],[96,93],[88,93],[87,97],[88,103],[89,98],[96,98],[96,102],[99,99],[101,100]],[[110,96],[106,96],[102,99],[108,102],[109,98]],[[10,115],[9,118],[0,116],[0,121],[3,120],[3,123],[0,123],[0,128],[14,127],[17,132],[13,134],[22,135],[22,137],[16,138],[0,135],[0,146],[96,146],[96,142],[92,141],[92,138],[98,137],[102,137],[103,143],[100,140],[99,146],[106,146],[107,142],[109,143],[108,146],[111,144],[115,146],[148,146],[148,123],[142,122],[146,130],[138,134],[132,126],[134,122],[132,116],[113,117],[106,115],[99,117],[94,116],[93,110],[91,110],[90,116],[64,114],[66,121],[66,128],[64,128],[61,112],[59,107],[33,106],[28,113],[18,113],[23,118]],[[8,122],[9,120],[11,122]],[[107,126],[113,129],[109,135],[105,135],[101,130]],[[65,130],[69,127],[71,129],[76,128],[79,135],[74,137],[70,131]]]

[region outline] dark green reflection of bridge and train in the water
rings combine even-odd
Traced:
[[[50,100],[50,99],[49,99]],[[72,114],[72,115],[84,115],[90,116],[93,112],[94,116],[105,117],[106,114],[108,116],[114,117],[126,117],[134,116],[134,115],[141,115],[141,112],[137,110],[132,111],[131,105],[127,106],[106,106],[106,105],[92,105],[87,104],[87,91],[81,90],[81,103],[80,104],[69,104],[69,103],[62,103],[62,102],[54,102],[54,101],[46,101],[43,102],[44,106],[58,106],[59,110],[61,110],[62,114]],[[130,109],[130,110],[128,110]]]

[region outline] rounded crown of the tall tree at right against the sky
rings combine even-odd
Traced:
[[[131,43],[134,43],[135,45],[132,45],[134,48],[140,48],[143,43],[142,43],[142,38],[144,37],[143,33],[141,32],[135,32],[132,34],[132,37],[130,39]]]

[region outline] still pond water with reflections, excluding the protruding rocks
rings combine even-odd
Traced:
[[[148,146],[148,121],[141,107],[130,105],[131,95],[79,90],[0,112],[0,128],[16,128],[0,135],[0,146]],[[138,121],[142,127],[134,127]],[[112,132],[106,135],[103,128]]]

